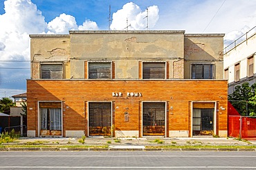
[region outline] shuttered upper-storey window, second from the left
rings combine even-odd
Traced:
[[[111,63],[89,63],[89,78],[111,78]]]

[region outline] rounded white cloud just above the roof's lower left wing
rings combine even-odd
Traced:
[[[77,30],[75,17],[69,14],[60,14],[48,23],[48,30],[55,34],[68,34],[68,30]]]

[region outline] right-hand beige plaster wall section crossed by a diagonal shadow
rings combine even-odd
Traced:
[[[224,34],[185,34],[184,78],[191,77],[192,63],[213,63],[214,79],[223,79]]]

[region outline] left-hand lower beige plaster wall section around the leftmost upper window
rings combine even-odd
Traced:
[[[64,78],[69,78],[69,35],[30,35],[30,38],[31,77],[40,78],[40,63],[63,63]]]

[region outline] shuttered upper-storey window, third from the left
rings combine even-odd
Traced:
[[[165,62],[143,62],[143,79],[165,79]]]

